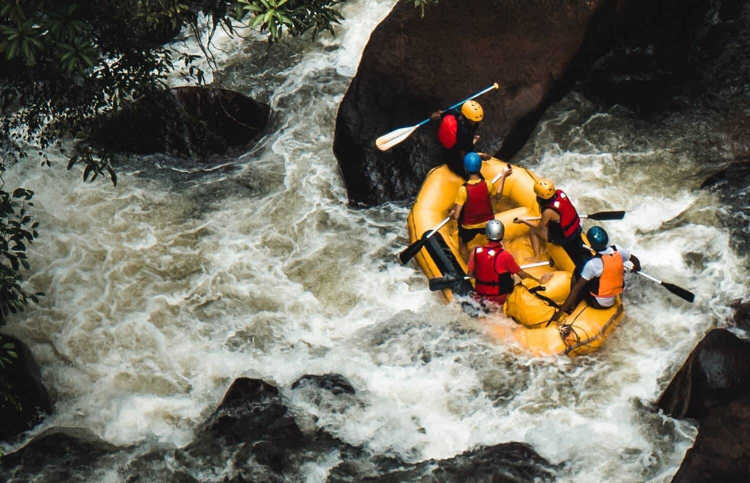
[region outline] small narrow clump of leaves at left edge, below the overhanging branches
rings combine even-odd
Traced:
[[[38,297],[44,295],[41,292],[26,293],[21,287],[21,266],[29,268],[26,244],[31,244],[39,236],[39,223],[32,223],[26,212],[27,207],[34,205],[31,202],[34,193],[23,188],[17,188],[13,193],[5,191],[3,172],[5,165],[0,163],[0,326],[5,325],[8,314],[23,312],[29,300],[39,302]],[[7,350],[7,347],[3,348]],[[14,353],[8,354],[13,356]],[[10,363],[0,354],[0,368],[5,367],[4,361]]]

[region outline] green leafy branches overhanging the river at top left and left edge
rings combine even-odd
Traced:
[[[0,0],[0,133],[14,136],[16,160],[28,149],[40,151],[61,139],[90,131],[101,115],[166,89],[175,66],[187,82],[202,84],[203,72],[193,65],[200,57],[174,57],[165,42],[182,29],[200,42],[199,14],[210,19],[210,38],[217,28],[238,34],[251,28],[269,43],[285,34],[334,33],[343,17],[338,5],[347,0]],[[437,0],[410,0],[416,7]],[[235,22],[235,23],[233,23]],[[239,22],[238,26],[236,23]],[[0,139],[2,141],[2,139]],[[88,147],[70,154],[68,169],[83,165],[83,180],[108,176],[117,184],[110,154]],[[0,181],[5,159],[0,157]],[[28,269],[26,244],[37,237],[26,208],[34,193],[23,188],[8,193],[0,184],[0,326],[8,314],[23,311],[42,293],[21,288],[20,267]]]

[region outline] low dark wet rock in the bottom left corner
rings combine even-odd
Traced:
[[[82,480],[99,458],[118,452],[117,446],[101,440],[85,428],[50,428],[17,452],[0,459],[0,475],[8,481]]]

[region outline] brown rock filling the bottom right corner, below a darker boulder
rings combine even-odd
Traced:
[[[672,483],[750,481],[750,398],[712,410],[700,423]]]

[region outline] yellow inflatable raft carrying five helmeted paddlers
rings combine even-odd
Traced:
[[[491,179],[501,169],[508,166],[499,160],[484,161],[481,174]],[[514,217],[539,216],[539,208],[533,191],[534,181],[538,176],[520,166],[512,166],[513,172],[505,178],[502,189],[502,200],[495,208],[495,218],[505,225],[503,245],[521,265],[533,251],[528,240],[528,226],[513,223]],[[433,229],[446,217],[453,207],[458,188],[466,180],[456,175],[447,166],[438,166],[429,172],[422,189],[414,203],[407,226],[411,242],[416,242],[423,234]],[[499,181],[498,181],[499,182]],[[586,242],[585,238],[582,240]],[[469,243],[469,250],[484,245],[487,239],[477,236]],[[571,272],[574,265],[568,254],[559,245],[547,244],[546,254],[554,263],[553,278],[544,284],[543,294],[548,299],[562,305],[570,290]],[[417,263],[428,278],[448,276],[462,278],[466,275],[466,261],[458,252],[458,225],[451,221],[441,228],[425,244],[425,248],[415,257]],[[540,277],[544,272],[553,271],[550,267],[529,269],[528,272]],[[457,295],[469,293],[472,282],[464,281],[454,286]],[[533,281],[524,280],[517,285],[503,306],[503,311],[517,322],[517,326],[508,327],[498,323],[490,326],[493,337],[514,340],[523,350],[535,356],[567,354],[579,356],[598,349],[608,335],[622,320],[622,302],[617,299],[613,307],[604,310],[589,307],[580,302],[575,310],[561,318],[559,323],[548,321],[554,308],[547,302],[529,292],[537,286]],[[443,290],[446,301],[452,299],[451,290]]]

